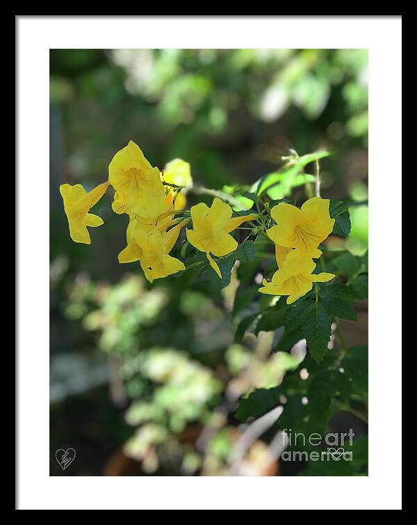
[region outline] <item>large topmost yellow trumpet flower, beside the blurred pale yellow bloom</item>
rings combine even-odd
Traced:
[[[116,190],[113,210],[117,213],[149,219],[169,209],[160,171],[149,164],[133,141],[113,157],[108,181]]]

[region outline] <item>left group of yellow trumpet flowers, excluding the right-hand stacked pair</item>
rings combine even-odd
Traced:
[[[192,182],[188,163],[174,159],[161,173],[149,164],[139,146],[130,141],[116,153],[108,166],[108,182],[89,193],[81,185],[60,186],[71,238],[75,242],[90,244],[87,226],[100,226],[104,222],[97,215],[90,214],[90,208],[111,185],[115,189],[113,211],[129,216],[127,245],[119,253],[119,262],[139,261],[150,282],[184,270],[183,262],[170,256],[170,251],[181,228],[190,221],[189,217],[175,218],[175,215],[185,207],[184,194]],[[179,188],[185,191],[179,192]],[[220,269],[211,253],[222,257],[236,250],[238,243],[231,237],[231,231],[253,217],[232,219],[231,215],[231,207],[220,198],[214,199],[211,208],[199,203],[190,210],[194,229],[187,230],[188,242],[206,253],[220,277]]]

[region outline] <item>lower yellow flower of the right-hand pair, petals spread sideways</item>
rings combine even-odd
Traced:
[[[272,281],[268,283],[263,279],[263,287],[259,292],[270,295],[288,295],[287,304],[297,301],[313,288],[313,283],[326,283],[334,278],[334,274],[322,272],[312,274],[316,268],[316,263],[311,257],[301,253],[299,249],[292,250],[286,256],[280,269],[272,276]]]

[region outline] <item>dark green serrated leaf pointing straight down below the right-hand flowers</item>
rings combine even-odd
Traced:
[[[309,307],[306,318],[302,322],[302,334],[316,363],[320,363],[327,353],[331,324],[329,314],[322,304],[314,303]]]

